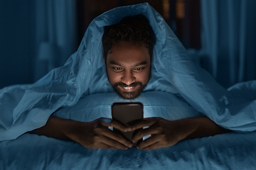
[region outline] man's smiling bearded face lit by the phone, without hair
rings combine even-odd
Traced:
[[[149,49],[120,42],[105,57],[107,77],[122,98],[137,98],[149,81],[151,60]]]

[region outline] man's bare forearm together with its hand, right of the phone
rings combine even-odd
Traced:
[[[144,128],[146,126],[149,128]],[[176,145],[176,143],[181,140],[231,132],[230,130],[225,130],[216,125],[207,117],[184,118],[180,120],[145,118],[144,120],[131,125],[127,130],[138,130],[132,137],[133,142],[138,142],[142,137],[151,135],[151,137],[146,140],[137,143],[138,149],[145,150],[170,147]]]

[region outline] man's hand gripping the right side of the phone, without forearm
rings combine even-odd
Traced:
[[[195,130],[193,128],[187,128],[184,123],[185,120],[171,121],[165,120],[164,118],[146,118],[131,125],[129,128],[126,128],[126,130],[132,131],[144,128],[134,132],[132,142],[137,142],[144,136],[151,135],[151,137],[146,140],[137,143],[138,149],[151,150],[175,145],[178,141],[183,140]],[[149,126],[149,128],[145,128],[146,126]]]

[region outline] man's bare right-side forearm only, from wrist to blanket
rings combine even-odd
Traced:
[[[217,125],[207,117],[186,119],[186,122],[184,125],[186,125],[188,129],[190,128],[191,131],[183,140],[188,140],[188,139],[193,139],[198,137],[207,137],[207,136],[223,134],[226,132],[231,132],[231,130],[221,128],[219,125]]]

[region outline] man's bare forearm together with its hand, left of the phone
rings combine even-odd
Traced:
[[[30,133],[45,135],[59,140],[70,140],[90,149],[128,149],[132,147],[121,133],[113,132],[108,127],[124,130],[125,125],[107,118],[98,118],[92,122],[79,122],[50,116],[46,125]]]

